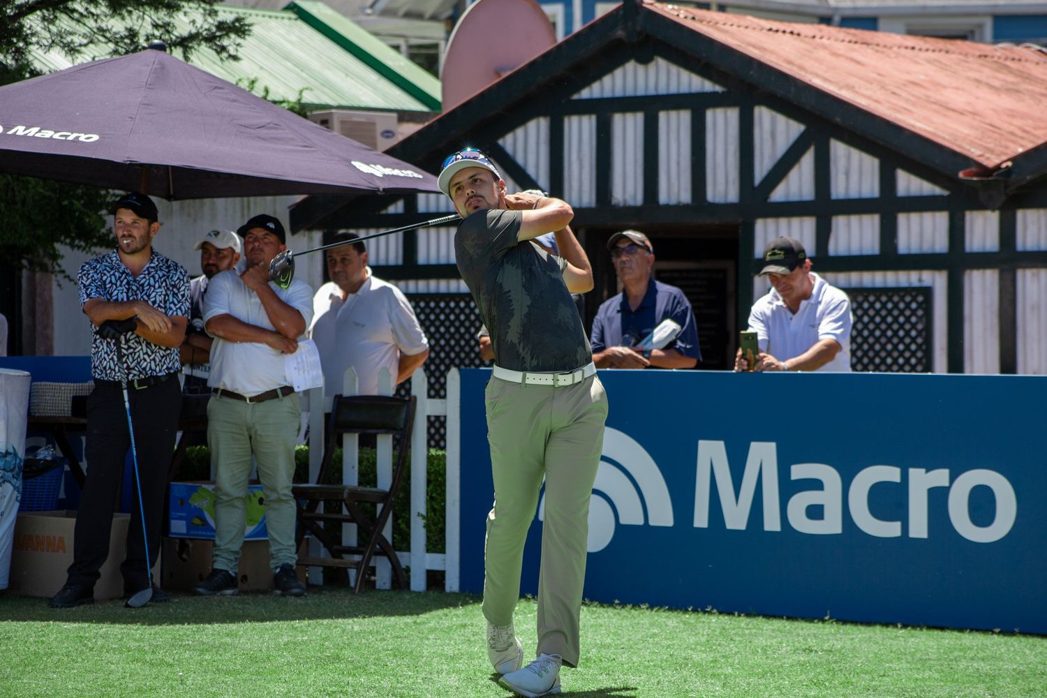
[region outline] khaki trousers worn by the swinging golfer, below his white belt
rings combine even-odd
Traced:
[[[603,449],[607,396],[597,376],[565,387],[491,378],[485,392],[494,508],[487,516],[484,615],[509,625],[524,542],[545,478],[538,578],[538,653],[576,667],[588,505]]]

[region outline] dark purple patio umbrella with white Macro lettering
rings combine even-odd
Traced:
[[[159,50],[0,87],[0,173],[164,199],[440,190]]]

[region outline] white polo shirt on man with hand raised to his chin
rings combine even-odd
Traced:
[[[313,290],[309,285],[295,278],[287,289],[271,282],[269,288],[281,300],[302,313],[308,328],[313,318]],[[210,278],[203,302],[205,323],[213,317],[226,314],[247,324],[276,329],[269,321],[258,294],[247,288],[232,270],[219,272]],[[228,342],[215,337],[210,347],[210,377],[207,379],[210,387],[250,397],[287,384],[282,353],[262,342]]]

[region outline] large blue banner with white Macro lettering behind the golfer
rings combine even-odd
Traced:
[[[1047,377],[599,375],[587,599],[1047,633]],[[476,593],[489,376],[461,371],[461,588]]]

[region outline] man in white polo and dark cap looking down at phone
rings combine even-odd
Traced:
[[[772,240],[763,250],[772,289],[753,303],[749,329],[760,346],[756,370],[850,371],[850,298],[810,271],[800,241]],[[735,370],[749,362],[735,356]]]

